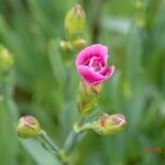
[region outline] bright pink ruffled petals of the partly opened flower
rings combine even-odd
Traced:
[[[110,78],[114,66],[107,66],[108,47],[95,44],[82,50],[76,59],[77,70],[90,86],[98,85]]]

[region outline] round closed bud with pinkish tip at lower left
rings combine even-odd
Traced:
[[[21,139],[35,138],[41,134],[38,121],[32,116],[20,118],[16,132]]]

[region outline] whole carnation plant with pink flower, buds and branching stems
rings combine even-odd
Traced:
[[[68,64],[75,63],[75,61],[73,61],[74,56],[68,56],[70,55],[69,53],[74,55],[76,51],[81,50],[87,44],[82,35],[85,23],[86,15],[82,8],[80,6],[72,8],[65,19],[67,37],[66,41],[62,41],[59,44],[64,53],[64,65],[67,64],[66,80],[70,80],[70,76],[68,75],[72,75],[67,74],[70,69],[68,69],[70,66]],[[62,56],[63,53],[61,54]],[[18,135],[21,139],[35,138],[42,142],[43,146],[56,156],[63,165],[73,164],[70,154],[89,130],[100,135],[112,135],[122,131],[127,124],[127,120],[122,114],[100,116],[100,113],[97,113],[98,111],[92,113],[98,103],[103,87],[102,85],[114,73],[114,66],[108,66],[108,47],[102,44],[94,44],[81,50],[77,54],[76,67],[80,75],[77,102],[80,113],[79,119],[74,123],[73,130],[70,130],[70,133],[66,138],[64,145],[62,145],[62,147],[56,145],[47,135],[46,131],[41,129],[40,122],[32,116],[22,117],[16,128]],[[67,94],[67,90],[65,90],[65,92]],[[98,119],[96,120],[92,114],[97,114]]]

